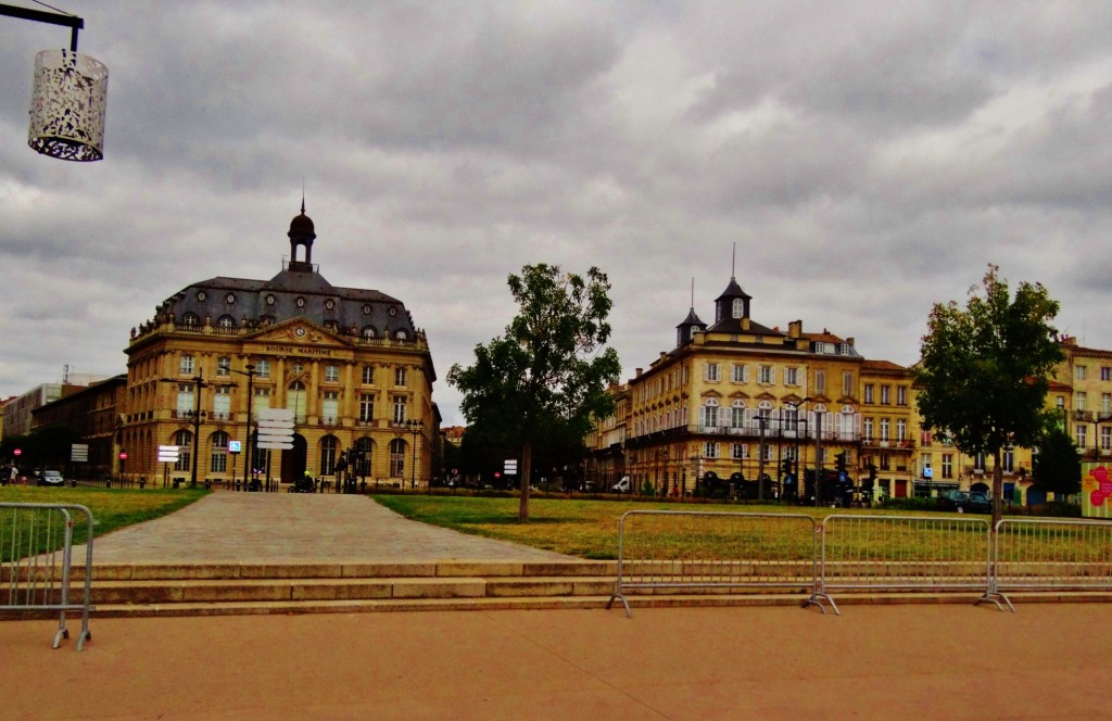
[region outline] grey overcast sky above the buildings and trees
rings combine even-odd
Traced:
[[[0,397],[277,274],[302,182],[321,275],[427,332],[446,425],[535,263],[608,274],[626,377],[693,279],[714,320],[735,244],[754,320],[867,358],[915,362],[990,263],[1112,348],[1112,2],[57,3],[109,68],[105,160],[27,147],[69,30],[0,17]]]

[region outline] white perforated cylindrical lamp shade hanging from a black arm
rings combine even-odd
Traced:
[[[73,50],[43,50],[34,58],[27,144],[61,160],[100,160],[107,105],[105,63]]]

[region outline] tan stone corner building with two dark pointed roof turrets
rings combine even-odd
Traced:
[[[751,317],[752,300],[731,278],[714,323],[691,308],[675,347],[629,379],[622,473],[654,495],[837,503],[874,488],[910,495],[909,371],[865,359],[852,337],[806,333],[802,320],[786,332],[762,325]],[[613,453],[597,447],[595,455]],[[596,464],[603,475],[608,467]]]

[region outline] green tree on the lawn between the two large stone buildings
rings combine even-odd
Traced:
[[[583,438],[594,416],[612,413],[606,385],[622,365],[605,347],[613,304],[602,270],[584,277],[539,264],[507,283],[517,316],[503,336],[475,347],[473,365],[451,366],[448,383],[463,392],[460,411],[471,425],[522,448],[518,518],[526,522],[534,446]]]

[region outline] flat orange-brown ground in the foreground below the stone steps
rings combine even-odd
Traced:
[[[1112,719],[1112,604],[56,625],[0,622],[0,718]]]

